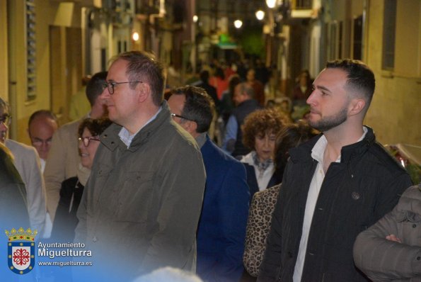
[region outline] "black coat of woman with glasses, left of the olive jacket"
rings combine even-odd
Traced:
[[[74,230],[79,222],[76,211],[81,203],[83,188],[77,176],[63,181],[60,201],[52,225],[51,238],[54,241],[73,242]]]

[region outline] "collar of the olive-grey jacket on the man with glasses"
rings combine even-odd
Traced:
[[[105,145],[105,147],[108,147],[109,150],[114,151],[115,148],[118,146],[121,146],[125,150],[129,150],[131,152],[136,151],[144,145],[146,142],[148,142],[149,138],[156,133],[158,128],[163,125],[163,123],[170,123],[171,122],[171,113],[170,109],[168,108],[168,103],[166,101],[163,101],[161,104],[161,112],[156,115],[156,118],[152,120],[150,123],[144,126],[142,130],[137,132],[137,135],[134,136],[132,143],[130,144],[129,149],[127,149],[127,146],[120,140],[120,137],[118,136],[118,133],[120,132],[122,126],[117,125],[113,123],[113,125],[110,125],[109,128],[107,128],[103,134],[100,135],[100,140]]]

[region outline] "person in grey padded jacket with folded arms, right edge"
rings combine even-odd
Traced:
[[[372,281],[421,281],[421,184],[411,186],[398,205],[360,233],[354,261]]]

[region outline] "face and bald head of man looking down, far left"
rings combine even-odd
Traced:
[[[47,159],[50,152],[52,135],[57,130],[55,120],[47,117],[35,118],[29,125],[28,133],[30,142],[37,150],[41,159]]]

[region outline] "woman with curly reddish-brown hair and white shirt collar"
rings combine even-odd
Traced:
[[[257,191],[263,191],[282,181],[282,174],[275,174],[273,156],[276,136],[283,123],[282,114],[275,109],[255,111],[244,120],[243,144],[251,152],[243,156],[241,162],[246,166],[252,197]]]

